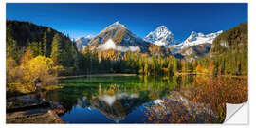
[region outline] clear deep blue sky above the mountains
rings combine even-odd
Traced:
[[[119,21],[140,37],[164,25],[176,40],[247,22],[247,4],[7,4],[7,19],[53,27],[72,38],[97,35]]]

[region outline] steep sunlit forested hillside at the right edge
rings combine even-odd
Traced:
[[[242,23],[223,32],[213,41],[209,55],[199,64],[210,68],[215,75],[247,75],[247,33],[247,23]]]

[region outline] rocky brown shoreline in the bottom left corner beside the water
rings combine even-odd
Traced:
[[[58,115],[66,110],[62,105],[36,99],[27,94],[7,100],[6,123],[65,123]]]

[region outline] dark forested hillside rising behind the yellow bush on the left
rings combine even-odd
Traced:
[[[29,22],[7,21],[7,57],[20,64],[27,50],[33,57],[51,57],[64,66],[74,66],[77,57],[75,44],[68,36],[51,27],[37,26]]]

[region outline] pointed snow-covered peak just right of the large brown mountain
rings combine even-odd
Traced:
[[[167,27],[160,26],[145,36],[144,40],[157,46],[170,46],[174,44],[174,34]]]

